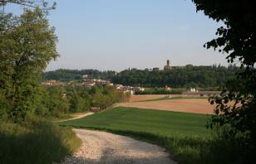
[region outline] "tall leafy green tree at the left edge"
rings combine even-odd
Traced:
[[[47,64],[56,59],[57,36],[42,10],[25,10],[20,17],[1,19],[0,93],[6,104],[5,118],[22,121],[37,106],[38,78]]]

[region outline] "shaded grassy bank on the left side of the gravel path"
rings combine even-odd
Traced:
[[[0,163],[61,162],[81,144],[71,128],[29,118],[25,123],[0,123]]]

